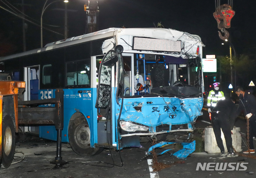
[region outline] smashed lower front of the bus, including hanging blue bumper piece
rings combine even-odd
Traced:
[[[203,98],[142,97],[125,98],[120,117],[120,149],[141,147],[140,141],[162,141],[149,148],[166,147],[180,143],[183,149],[174,156],[186,158],[195,150],[195,141],[190,141],[194,123],[202,115]],[[182,143],[184,141],[184,143]],[[165,150],[160,154],[166,153]]]

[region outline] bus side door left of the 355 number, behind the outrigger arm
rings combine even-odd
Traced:
[[[24,81],[26,88],[24,92],[24,101],[38,100],[39,79],[40,79],[40,66],[24,67]],[[23,127],[23,131],[29,131],[38,134],[39,127]]]

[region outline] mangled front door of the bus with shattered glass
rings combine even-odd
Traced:
[[[117,86],[120,84],[120,67],[122,67],[122,55],[114,50],[108,51],[103,57],[98,72],[97,99],[95,107],[98,111],[106,112],[105,122],[98,121],[98,145],[104,147],[104,143],[110,146],[117,146],[117,121],[115,119],[115,106],[118,99],[116,94],[122,93],[122,89]],[[131,57],[130,57],[131,59]],[[128,60],[129,61],[129,60]],[[117,63],[118,62],[118,63]],[[121,63],[121,65],[120,65]],[[123,85],[123,84],[122,84]],[[104,129],[105,128],[105,129]],[[104,133],[104,130],[105,133]],[[99,135],[101,133],[102,135]]]

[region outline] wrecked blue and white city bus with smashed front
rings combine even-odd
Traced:
[[[198,35],[174,29],[109,28],[0,62],[12,80],[26,81],[24,100],[54,98],[63,88],[62,141],[91,156],[153,137],[188,141],[202,115],[203,46]],[[57,137],[54,126],[24,131]]]

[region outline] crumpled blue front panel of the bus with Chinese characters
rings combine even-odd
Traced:
[[[202,115],[202,106],[203,98],[125,98],[120,119],[146,125],[155,133],[158,125],[169,124],[171,130],[172,125],[193,123]]]

